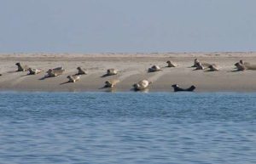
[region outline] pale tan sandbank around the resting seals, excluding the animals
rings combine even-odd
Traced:
[[[220,71],[193,71],[194,59],[219,65]],[[195,85],[196,92],[256,92],[256,71],[232,71],[240,59],[256,64],[256,53],[187,53],[187,54],[0,54],[0,90],[14,91],[110,91],[102,89],[104,82],[117,78],[120,82],[114,91],[131,91],[135,82],[152,81],[149,91],[172,92],[172,84],[183,88]],[[166,61],[178,64],[167,68]],[[32,68],[43,69],[38,75],[26,76],[27,72],[15,72],[16,62]],[[148,73],[148,67],[160,65],[163,71]],[[49,68],[64,66],[61,76],[45,78]],[[67,76],[81,66],[88,75],[76,83],[67,82]],[[107,69],[116,68],[119,75],[102,77]]]

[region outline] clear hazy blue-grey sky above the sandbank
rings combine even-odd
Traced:
[[[0,53],[256,51],[255,0],[0,0]]]

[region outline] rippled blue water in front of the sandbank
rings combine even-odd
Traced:
[[[0,93],[0,163],[256,163],[256,93]]]

